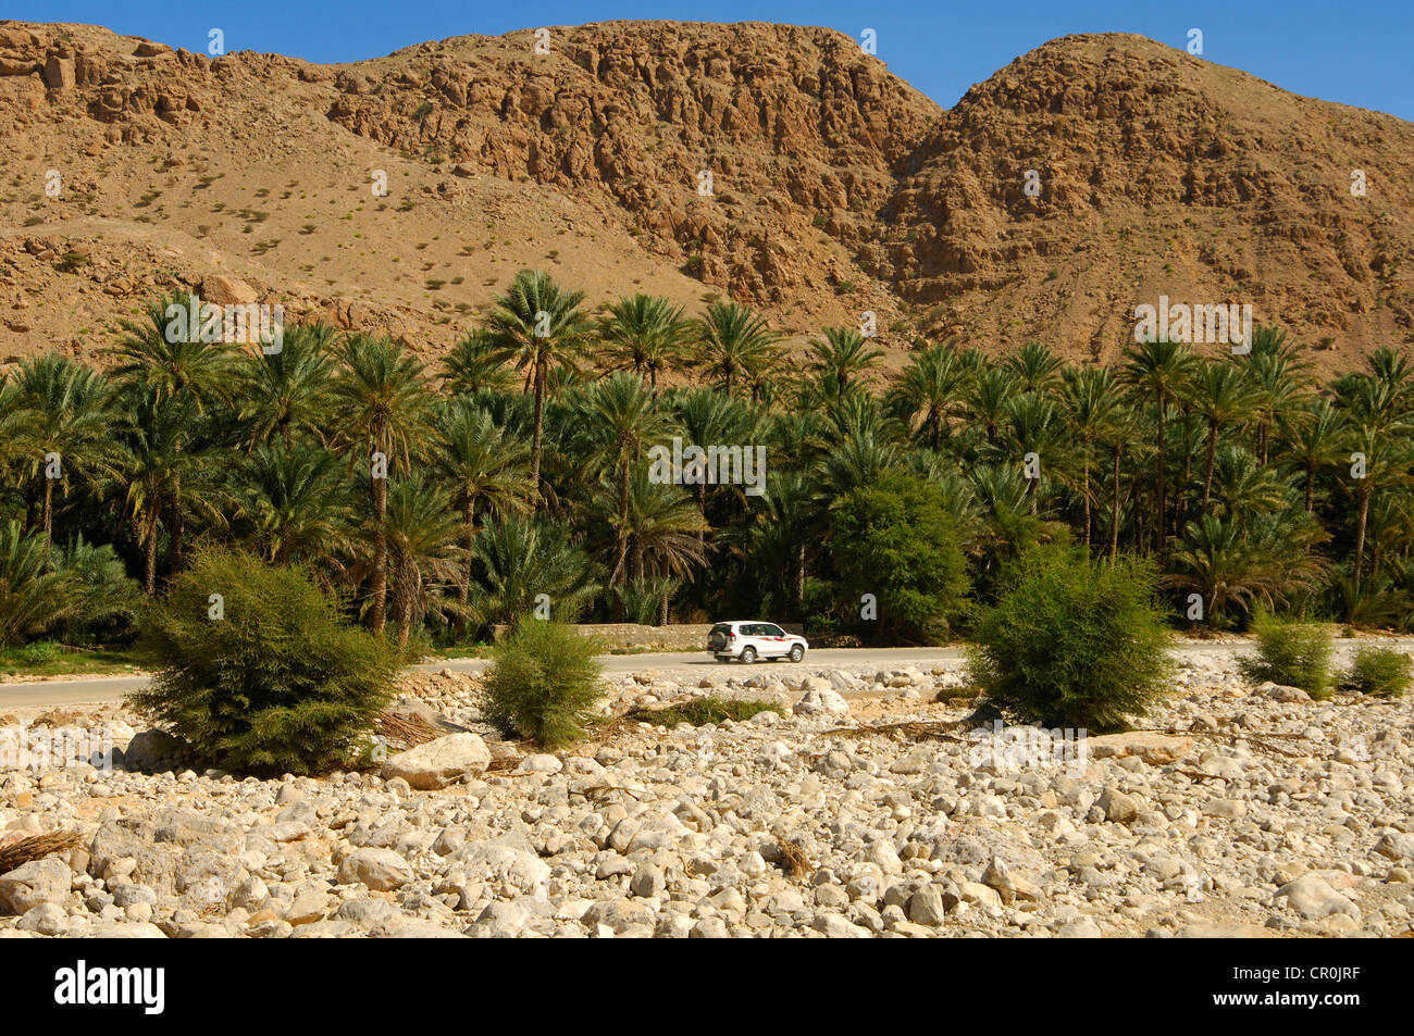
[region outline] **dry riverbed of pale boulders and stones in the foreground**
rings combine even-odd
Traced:
[[[1408,936],[1414,702],[1178,656],[1143,732],[1039,756],[970,735],[960,660],[615,674],[609,715],[783,714],[557,755],[492,736],[479,676],[413,673],[403,711],[468,732],[321,779],[182,769],[122,705],[11,712],[126,762],[0,770],[0,851],[78,832],[0,875],[0,937]]]

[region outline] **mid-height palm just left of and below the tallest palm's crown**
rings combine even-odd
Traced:
[[[530,445],[496,425],[488,410],[457,400],[437,413],[433,468],[461,510],[465,547],[457,601],[471,591],[471,565],[478,514],[523,514],[530,510]]]

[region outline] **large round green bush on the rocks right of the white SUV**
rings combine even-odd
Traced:
[[[971,683],[1022,722],[1124,729],[1172,666],[1157,588],[1144,560],[1110,568],[1083,548],[1027,550],[1003,568],[997,604],[978,609]]]

